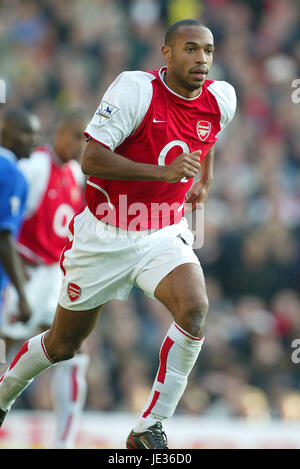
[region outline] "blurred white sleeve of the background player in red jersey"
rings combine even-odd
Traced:
[[[35,151],[29,158],[19,160],[18,167],[28,183],[25,217],[29,218],[38,209],[45,193],[50,174],[50,158],[43,151]]]

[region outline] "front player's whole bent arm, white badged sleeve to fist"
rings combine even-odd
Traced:
[[[166,182],[195,176],[200,152],[182,153],[167,166],[139,163],[115,153],[143,121],[152,100],[153,78],[145,72],[124,72],[108,88],[85,131],[89,138],[81,164],[85,174],[104,179]]]

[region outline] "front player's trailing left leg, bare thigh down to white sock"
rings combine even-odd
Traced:
[[[35,376],[75,355],[92,331],[100,309],[101,306],[88,311],[71,311],[58,305],[50,330],[28,340],[0,378],[2,414],[10,409]]]

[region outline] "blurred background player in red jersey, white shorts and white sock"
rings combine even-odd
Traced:
[[[83,149],[84,122],[78,112],[63,116],[56,126],[53,145],[36,148],[30,158],[19,162],[29,190],[18,251],[28,277],[25,292],[33,314],[26,323],[15,320],[18,296],[9,285],[0,327],[7,346],[47,330],[53,321],[62,275],[60,253],[68,241],[68,225],[84,200],[85,177],[77,161]],[[87,365],[88,356],[78,353],[54,371],[55,448],[75,447]]]

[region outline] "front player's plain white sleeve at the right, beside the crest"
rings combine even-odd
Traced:
[[[227,81],[214,81],[208,86],[209,91],[215,96],[221,112],[221,131],[228,125],[235,114],[236,94],[232,85]]]

